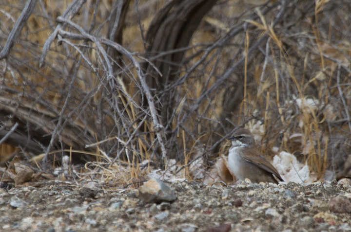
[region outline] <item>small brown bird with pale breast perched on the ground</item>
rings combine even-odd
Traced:
[[[240,180],[249,178],[253,183],[272,182],[278,184],[275,178],[284,181],[273,165],[261,155],[249,130],[240,128],[228,139],[232,141],[228,164],[236,178]]]

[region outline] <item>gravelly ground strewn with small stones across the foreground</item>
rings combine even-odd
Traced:
[[[160,204],[141,201],[131,189],[62,184],[1,189],[0,231],[351,231],[347,181],[171,187],[177,200]]]

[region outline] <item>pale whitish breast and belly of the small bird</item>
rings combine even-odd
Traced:
[[[240,152],[239,146],[232,147],[229,149],[228,164],[233,174],[235,175],[235,177],[240,180],[244,180],[246,178],[245,177],[246,170],[244,170],[245,165],[243,162],[245,161],[242,160],[242,158],[239,155],[239,152]]]

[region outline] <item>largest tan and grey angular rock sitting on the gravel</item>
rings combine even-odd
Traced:
[[[161,203],[175,201],[175,191],[159,179],[152,178],[139,188],[139,199],[145,202]]]

